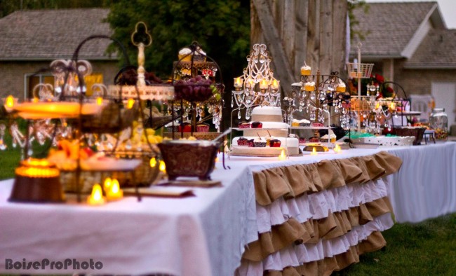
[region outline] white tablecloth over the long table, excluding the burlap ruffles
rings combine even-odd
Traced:
[[[0,181],[0,272],[233,275],[243,248],[257,240],[252,172],[323,159],[389,151],[403,159],[389,177],[398,221],[422,221],[456,212],[456,143],[340,154],[277,158],[232,157],[212,177],[222,188],[194,188],[192,198],[124,198],[101,207],[21,204],[7,199],[12,180]],[[102,270],[6,270],[13,261],[100,261]]]

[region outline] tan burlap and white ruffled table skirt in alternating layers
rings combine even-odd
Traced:
[[[330,275],[385,246],[393,226],[387,152],[253,172],[258,239],[236,275]]]

